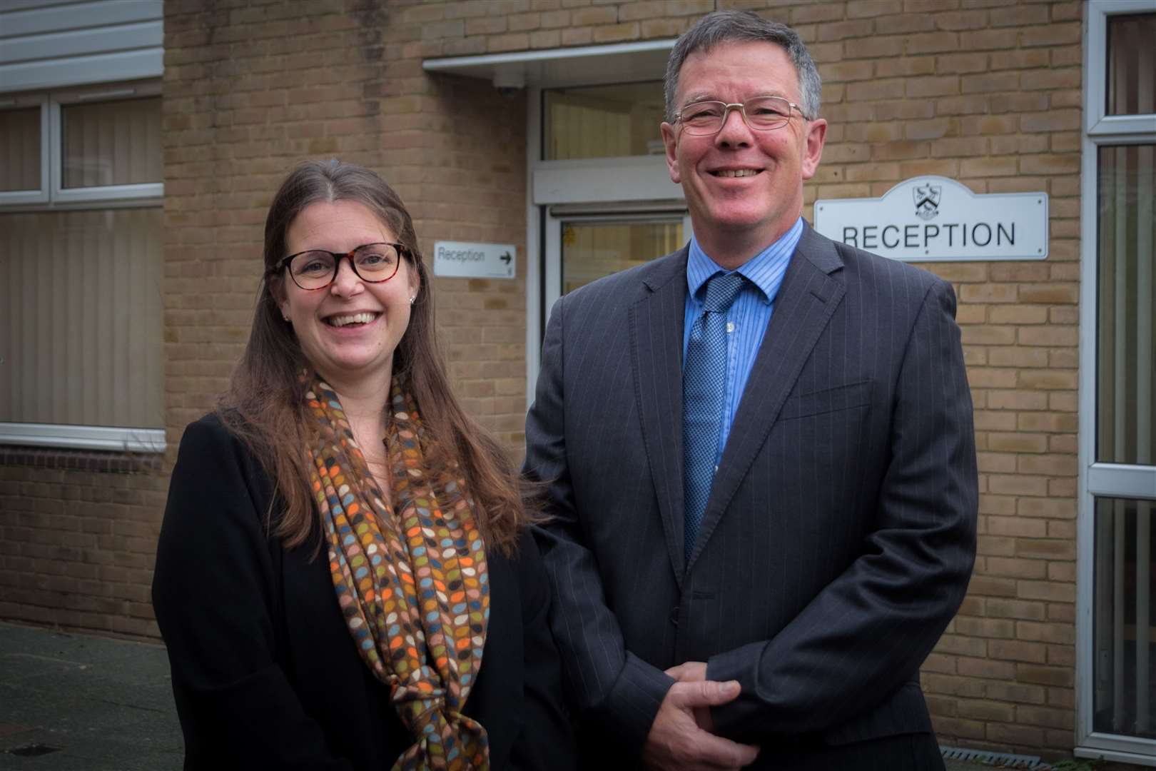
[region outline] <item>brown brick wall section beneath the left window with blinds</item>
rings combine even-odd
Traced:
[[[0,618],[156,637],[160,462],[0,447]]]

